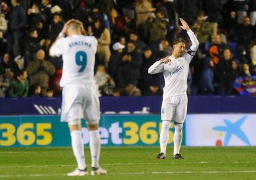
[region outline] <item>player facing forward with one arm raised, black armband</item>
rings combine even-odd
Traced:
[[[163,102],[161,107],[162,128],[160,133],[160,153],[156,159],[166,158],[166,146],[169,139],[171,120],[174,120],[174,159],[183,159],[179,150],[182,142],[182,127],[187,113],[187,75],[189,63],[195,55],[199,42],[189,25],[182,18],[181,28],[187,31],[192,46],[186,52],[184,39],[176,39],[173,43],[173,54],[158,60],[150,68],[148,73],[163,72],[165,86],[163,89]]]

